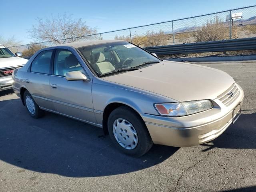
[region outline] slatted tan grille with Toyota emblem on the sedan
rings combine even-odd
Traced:
[[[228,94],[230,92],[233,93],[233,97]],[[232,104],[232,102],[234,102],[236,100],[236,98],[238,98],[239,95],[240,95],[240,91],[238,90],[236,84],[234,83],[234,84],[232,84],[232,86],[230,88],[228,88],[225,92],[220,94],[217,98],[225,106],[229,106],[230,104]]]

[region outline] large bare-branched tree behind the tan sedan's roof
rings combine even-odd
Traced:
[[[33,25],[28,33],[35,41],[54,41],[57,44],[74,42],[79,39],[95,39],[96,36],[88,36],[97,32],[96,28],[91,28],[82,21],[82,18],[74,19],[72,14],[58,14],[51,18],[36,18],[37,25]]]

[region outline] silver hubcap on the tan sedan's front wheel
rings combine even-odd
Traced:
[[[116,141],[125,149],[134,149],[138,144],[135,128],[126,119],[116,119],[113,124],[113,133]]]

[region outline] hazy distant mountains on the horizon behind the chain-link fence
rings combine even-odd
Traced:
[[[228,24],[229,21],[225,21],[223,23]],[[234,20],[234,25],[252,25],[252,24],[256,24],[256,16],[250,17],[248,19]],[[174,30],[174,33],[192,32],[192,31],[199,30],[200,28],[201,27],[196,27],[196,26],[182,27],[182,28],[178,28],[178,29]],[[172,34],[172,32],[166,31],[166,32],[164,32],[164,34]]]

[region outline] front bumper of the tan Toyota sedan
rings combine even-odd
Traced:
[[[214,108],[182,117],[163,117],[140,114],[144,120],[154,144],[175,147],[189,147],[206,143],[220,136],[233,121],[239,110],[233,109],[242,105],[244,92],[240,86],[239,97],[228,107],[215,99]]]

